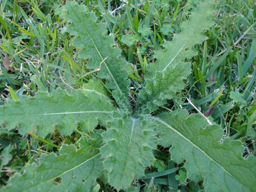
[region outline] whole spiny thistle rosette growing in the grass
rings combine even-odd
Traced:
[[[172,160],[185,162],[187,177],[204,180],[206,191],[256,191],[256,159],[243,157],[239,140],[222,139],[223,129],[208,125],[199,114],[159,110],[184,88],[191,73],[186,59],[197,55],[195,45],[207,39],[204,32],[213,25],[213,3],[200,3],[182,23],[181,32],[163,44],[165,49],[155,52],[156,62],[148,64],[145,83],[132,108],[125,70],[128,62],[113,47],[114,38],[107,35],[106,24],[97,23],[86,6],[67,2],[61,8],[67,32],[74,37],[79,58],[87,59],[91,70],[99,69],[97,79],[71,92],[58,88],[8,101],[0,107],[0,123],[8,130],[17,127],[21,135],[29,131],[46,137],[56,127],[61,134],[70,135],[79,126],[88,136],[81,137],[77,146],[63,144],[58,154],[43,154],[38,163],[27,164],[2,191],[89,192],[97,179],[116,190],[127,190],[151,166],[157,145],[170,147]],[[105,87],[99,83],[101,79],[105,79]],[[56,178],[61,178],[58,185],[54,184]]]

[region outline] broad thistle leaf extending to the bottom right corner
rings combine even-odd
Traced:
[[[160,145],[172,145],[169,151],[176,163],[186,160],[189,179],[204,179],[206,191],[256,191],[256,158],[243,157],[239,140],[222,140],[220,126],[205,125],[202,116],[185,110],[158,117]]]

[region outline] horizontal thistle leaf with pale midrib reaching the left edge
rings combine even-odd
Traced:
[[[17,102],[9,101],[0,107],[0,124],[9,130],[18,127],[19,133],[37,130],[40,137],[52,133],[55,126],[61,134],[71,134],[80,124],[83,131],[93,131],[110,118],[115,108],[109,100],[92,92],[87,96],[82,90],[69,94],[57,89],[51,94],[38,91],[34,97],[22,96]]]

